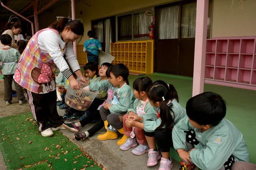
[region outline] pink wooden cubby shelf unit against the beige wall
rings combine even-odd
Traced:
[[[207,39],[204,79],[256,90],[256,36]]]

